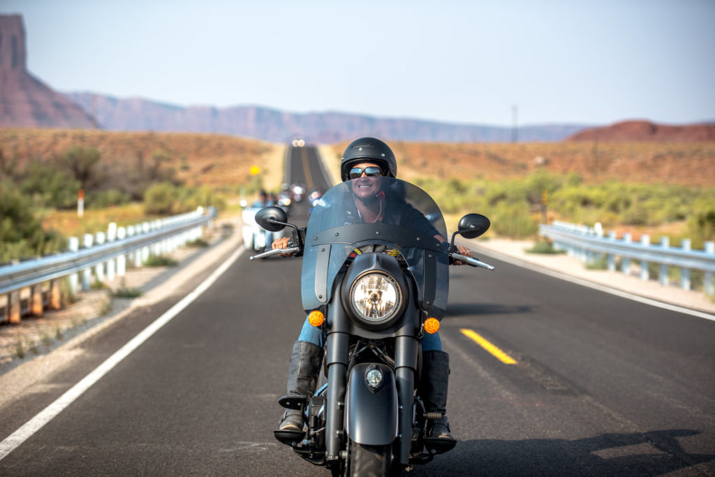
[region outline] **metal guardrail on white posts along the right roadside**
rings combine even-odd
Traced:
[[[622,239],[616,232],[603,234],[600,227],[586,227],[566,222],[553,222],[553,225],[541,225],[539,234],[553,241],[554,247],[565,250],[569,255],[579,257],[583,262],[595,262],[606,257],[608,270],[616,270],[616,257],[621,258],[621,271],[631,275],[631,261],[640,262],[640,277],[650,279],[649,264],[659,265],[658,280],[663,285],[670,285],[669,268],[680,270],[679,285],[691,289],[691,270],[700,270],[703,275],[703,290],[708,295],[715,294],[713,274],[715,272],[715,242],[706,242],[705,250],[691,250],[689,239],[682,241],[681,247],[671,247],[669,239],[664,237],[657,245],[651,244],[649,235],[642,235],[640,242],[633,242],[631,234],[624,234]]]

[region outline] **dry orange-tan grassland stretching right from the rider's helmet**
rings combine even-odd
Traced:
[[[347,143],[335,144],[326,159],[339,160]],[[390,142],[400,177],[432,175],[443,180],[526,177],[543,169],[574,172],[586,184],[606,180],[639,184],[715,184],[713,142],[548,142],[470,143]],[[336,159],[337,158],[337,159]]]

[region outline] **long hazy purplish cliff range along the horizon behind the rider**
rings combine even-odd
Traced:
[[[342,112],[297,114],[257,106],[219,109],[177,107],[146,99],[117,99],[90,93],[68,93],[85,111],[94,111],[104,129],[117,131],[211,132],[237,134],[271,142],[302,137],[332,143],[371,135],[427,142],[509,142],[510,127],[450,124],[418,119],[370,117]],[[561,141],[583,124],[521,127],[520,141]]]

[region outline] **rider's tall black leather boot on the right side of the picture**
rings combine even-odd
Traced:
[[[457,440],[450,434],[447,418],[447,388],[449,380],[449,355],[444,351],[422,353],[422,378],[419,394],[428,414],[425,446],[434,453],[450,451]],[[438,417],[438,415],[440,417]]]

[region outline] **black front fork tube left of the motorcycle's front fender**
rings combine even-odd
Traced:
[[[325,460],[340,459],[345,438],[345,380],[347,379],[347,353],[350,335],[327,335],[327,400],[325,401]]]

